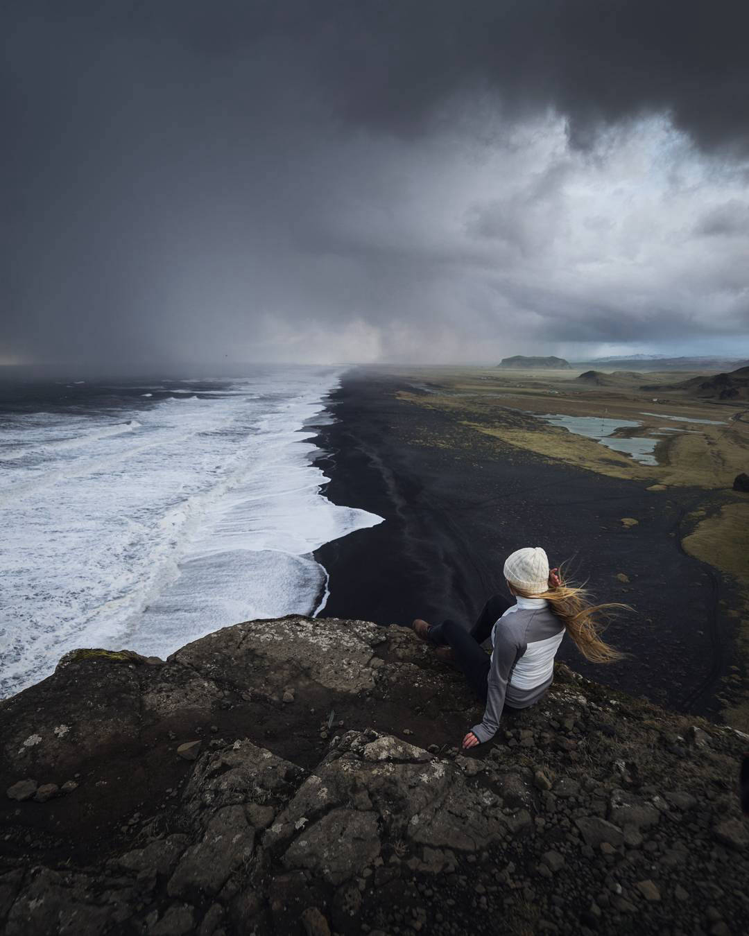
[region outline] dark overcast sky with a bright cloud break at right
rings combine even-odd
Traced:
[[[744,0],[3,9],[0,362],[749,355]]]

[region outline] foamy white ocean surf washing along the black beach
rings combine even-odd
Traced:
[[[0,386],[0,696],[75,648],[318,614],[315,550],[382,521],[312,463],[343,371]]]

